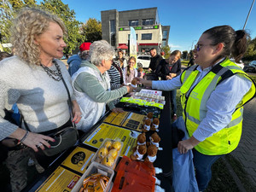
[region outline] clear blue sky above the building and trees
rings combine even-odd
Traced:
[[[62,0],[76,13],[76,19],[86,22],[89,18],[101,20],[101,11],[117,9],[145,9],[157,7],[162,26],[171,26],[171,50],[190,50],[201,33],[212,26],[229,25],[242,29],[253,0]],[[245,27],[251,38],[256,37],[256,3]]]

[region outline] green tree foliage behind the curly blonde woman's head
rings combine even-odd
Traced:
[[[63,20],[67,27],[67,36],[64,37],[67,48],[64,49],[64,54],[72,53],[73,49],[84,42],[84,39],[82,39],[79,33],[81,22],[75,19],[74,10],[69,9],[68,5],[62,3],[61,0],[44,0],[40,5],[37,5],[36,0],[5,0],[0,3],[1,44],[9,43],[11,20],[15,17],[15,12],[24,6],[47,9]]]

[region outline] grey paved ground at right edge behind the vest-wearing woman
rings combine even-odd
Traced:
[[[256,98],[244,107],[241,141],[231,153],[241,162],[256,186]]]

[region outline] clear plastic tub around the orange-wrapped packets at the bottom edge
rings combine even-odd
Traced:
[[[101,173],[102,175],[107,176],[109,178],[108,184],[106,185],[106,188],[103,190],[103,192],[110,191],[111,187],[113,186],[113,169],[108,168],[107,166],[103,166],[99,163],[92,162],[88,169],[84,172],[83,176],[80,177],[78,183],[76,183],[71,192],[79,192],[84,183],[84,179],[90,177],[94,173]]]

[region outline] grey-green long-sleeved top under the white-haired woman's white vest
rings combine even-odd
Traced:
[[[107,73],[102,74],[99,69],[89,61],[82,61],[81,67],[85,66],[96,69],[100,73],[102,79],[106,80]],[[86,93],[95,102],[107,102],[110,110],[115,108],[113,100],[127,93],[126,87],[121,87],[117,90],[105,90],[98,79],[90,73],[80,73],[74,82],[74,88],[80,92]]]

